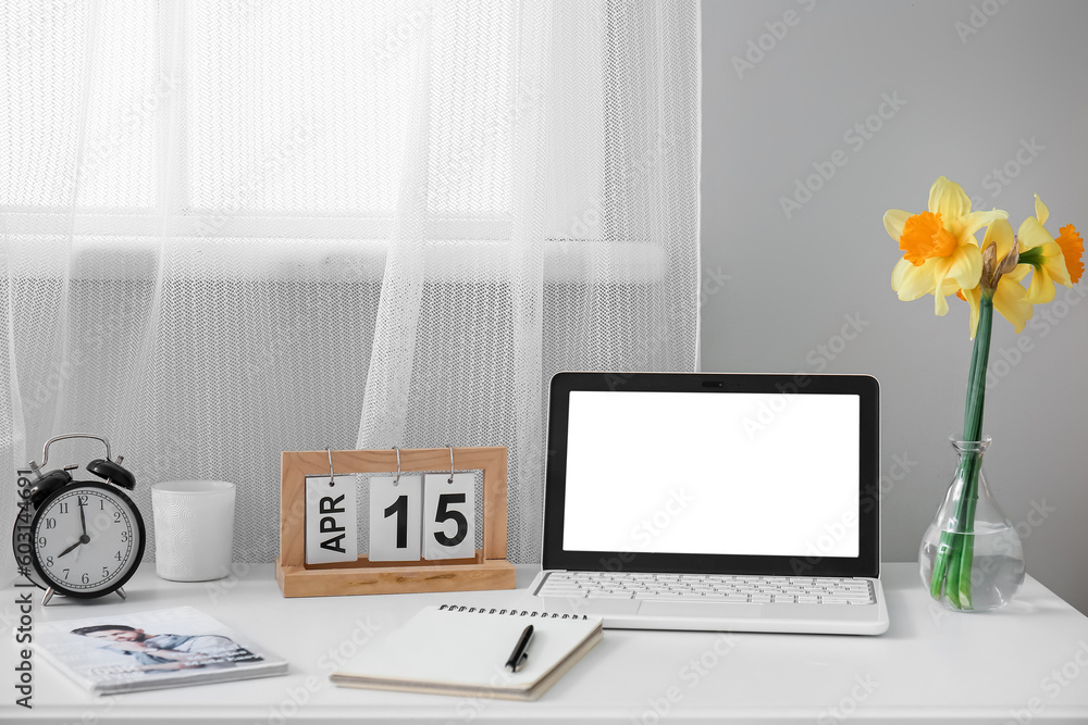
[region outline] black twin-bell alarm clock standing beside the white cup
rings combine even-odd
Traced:
[[[123,457],[112,460],[110,441],[85,433],[50,439],[41,451],[41,466],[49,458],[49,446],[70,438],[106,445],[106,458],[85,466],[103,480],[73,480],[69,471],[77,465],[42,475],[30,461],[37,479],[30,482],[26,497],[28,511],[15,522],[13,549],[16,558],[29,559],[34,576],[30,567],[23,565],[21,571],[46,590],[42,604],[54,593],[92,599],[116,591],[124,599],[122,587],[136,573],[146,541],[144,518],[125,493],[136,487],[136,478],[121,466]]]

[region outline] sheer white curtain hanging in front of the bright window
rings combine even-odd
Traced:
[[[280,451],[502,445],[533,561],[548,377],[694,368],[694,1],[26,0],[0,45],[12,518],[86,430],[149,521],[236,482],[271,561]]]

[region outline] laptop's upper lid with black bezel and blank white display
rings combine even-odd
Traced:
[[[546,567],[840,576],[878,561],[873,378],[562,373],[552,396]]]

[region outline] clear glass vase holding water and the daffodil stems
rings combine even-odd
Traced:
[[[922,539],[922,580],[951,610],[994,610],[1012,601],[1024,583],[1024,546],[982,472],[989,436],[951,436],[949,442],[956,453],[955,475]]]

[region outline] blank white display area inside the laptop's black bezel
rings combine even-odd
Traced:
[[[854,395],[572,391],[568,551],[857,557]]]

